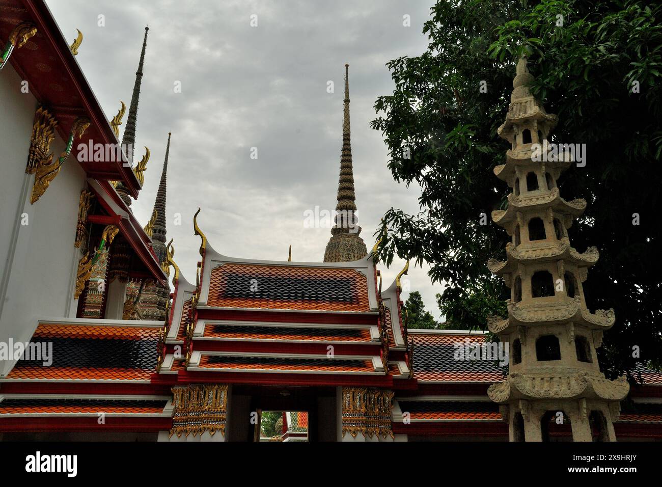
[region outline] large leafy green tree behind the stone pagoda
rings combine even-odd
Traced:
[[[565,172],[559,188],[589,203],[569,229],[578,250],[600,250],[587,304],[616,312],[602,364],[610,376],[632,370],[638,345],[641,360],[659,366],[660,19],[652,1],[440,0],[423,30],[428,50],[387,63],[395,89],[377,99],[371,125],[385,136],[395,180],[422,191],[420,213],[385,214],[379,258],[429,262],[432,280],[448,283],[438,304],[449,323],[484,328],[510,298],[486,262],[504,259],[509,239],[489,219],[509,192],[492,169],[508,148],[496,129],[524,51],[532,91],[559,115],[551,141],[587,144],[587,165]]]

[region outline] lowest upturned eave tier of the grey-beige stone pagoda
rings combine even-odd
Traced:
[[[556,374],[511,374],[504,382],[493,384],[487,395],[497,403],[517,399],[604,399],[620,401],[630,392],[625,376],[608,380],[604,376],[576,371]]]

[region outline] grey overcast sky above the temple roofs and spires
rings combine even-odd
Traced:
[[[432,0],[100,1],[47,0],[60,29],[83,43],[76,56],[108,119],[131,99],[144,27],[150,27],[138,109],[136,162],[152,157],[132,209],[143,224],[154,206],[168,131],[167,236],[195,282],[199,238],[193,214],[217,252],[320,262],[328,228],[305,228],[305,212],[334,211],[342,137],[344,64],[350,64],[357,217],[370,249],[390,207],[418,210],[418,186],[397,184],[387,148],[369,122],[393,91],[385,64],[416,56]],[[99,27],[103,15],[105,27]],[[251,16],[257,15],[257,27]],[[403,16],[409,15],[410,27]],[[181,82],[181,93],[175,83]],[[334,93],[327,92],[334,81]],[[126,123],[126,116],[124,117]],[[123,131],[124,125],[120,126]],[[120,138],[121,138],[120,133]],[[251,148],[258,158],[250,158]],[[181,213],[181,226],[175,214]],[[379,266],[387,287],[404,262]],[[427,268],[410,268],[411,290],[439,318]]]

